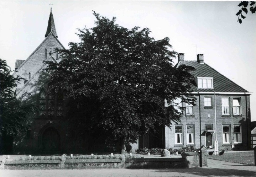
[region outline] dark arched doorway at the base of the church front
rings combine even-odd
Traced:
[[[58,131],[53,127],[47,128],[42,135],[43,152],[49,154],[57,153],[60,151],[60,147],[61,144]]]

